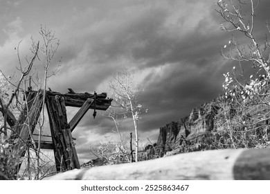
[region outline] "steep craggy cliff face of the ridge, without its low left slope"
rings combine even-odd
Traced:
[[[170,155],[169,152],[175,150],[181,152],[188,147],[199,150],[200,148],[197,148],[199,145],[207,144],[210,132],[222,130],[216,118],[218,110],[217,100],[213,100],[192,109],[189,116],[161,127],[155,146],[155,150],[161,153],[160,157],[166,152]]]

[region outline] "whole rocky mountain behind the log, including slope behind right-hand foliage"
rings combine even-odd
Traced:
[[[269,123],[267,119],[249,129],[244,127],[244,124],[237,124],[237,122],[255,120],[256,116],[262,114],[269,118],[269,107],[266,107],[268,113],[265,114],[262,105],[250,106],[251,108],[243,111],[241,107],[235,109],[236,106],[224,103],[224,96],[219,96],[209,103],[195,107],[188,116],[160,127],[159,138],[155,145],[148,145],[145,148],[148,159],[197,150],[233,148],[230,147],[235,143],[232,143],[233,139],[239,140],[238,144],[235,143],[237,148],[252,148],[254,146],[254,144],[251,145],[252,141],[263,139],[268,141],[268,137],[265,137],[267,132],[264,132],[265,126]],[[224,112],[226,112],[226,118]],[[232,134],[230,136],[229,132],[224,130],[228,122],[234,131],[233,138],[231,138]],[[242,142],[239,143],[240,141]]]

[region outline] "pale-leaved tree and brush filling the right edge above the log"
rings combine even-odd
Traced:
[[[222,144],[227,148],[269,146],[270,42],[255,29],[259,1],[219,0],[217,6],[224,19],[222,30],[233,33],[221,53],[239,64],[231,73],[224,73],[225,95],[220,100],[219,116],[223,118],[228,142],[223,140]],[[269,30],[268,24],[266,29]],[[243,64],[252,71],[244,73]]]

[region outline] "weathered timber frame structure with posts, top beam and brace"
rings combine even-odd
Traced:
[[[41,148],[53,149],[57,171],[80,168],[71,132],[88,109],[94,109],[93,116],[95,117],[96,110],[106,110],[111,105],[111,99],[107,98],[106,93],[75,93],[73,89],[69,89],[67,94],[43,90],[27,91],[26,105],[18,121],[11,112],[7,114],[8,124],[13,128],[11,143],[14,143],[14,149],[18,150],[21,156],[25,155],[27,146],[35,146],[30,140],[30,134],[33,134],[39,119],[44,94],[52,143],[42,142]],[[80,107],[69,123],[66,117],[66,106]]]

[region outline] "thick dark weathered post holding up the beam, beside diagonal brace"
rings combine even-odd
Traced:
[[[80,168],[71,130],[67,123],[64,97],[46,96],[57,171]]]

